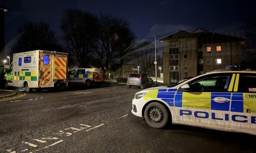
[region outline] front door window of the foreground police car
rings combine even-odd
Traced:
[[[229,75],[216,76],[203,76],[197,81],[188,83],[190,86],[190,92],[226,92],[230,81]]]

